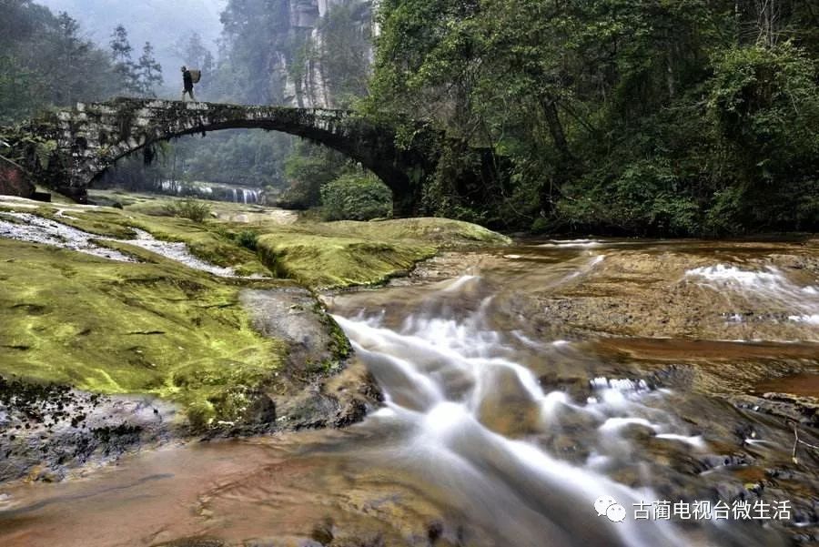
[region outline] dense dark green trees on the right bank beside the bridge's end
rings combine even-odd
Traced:
[[[429,181],[431,212],[621,233],[815,229],[817,17],[797,0],[385,0],[369,115],[428,119],[511,158],[489,200]]]

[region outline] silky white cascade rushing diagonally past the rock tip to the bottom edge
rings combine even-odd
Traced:
[[[536,546],[548,537],[561,545],[685,544],[671,525],[600,521],[584,526],[603,493],[627,507],[655,496],[632,491],[591,467],[556,460],[535,443],[494,432],[482,422],[489,419],[482,407],[505,385],[511,392],[504,397],[533,412],[534,429],[550,429],[561,415],[580,415],[601,420],[602,437],[613,442],[616,433],[606,428],[616,419],[606,416],[639,405],[626,402],[631,394],[599,390],[601,402],[575,405],[562,392],[544,393],[529,370],[497,354],[492,333],[455,322],[416,319],[397,333],[366,320],[337,319],[385,391],[386,409],[376,420],[409,431],[401,451],[407,461],[400,465],[425,469],[425,479],[445,486],[471,519],[494,522],[493,541]],[[504,377],[511,381],[501,381]]]

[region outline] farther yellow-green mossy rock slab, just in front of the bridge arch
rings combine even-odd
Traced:
[[[158,239],[182,241],[198,258],[234,268],[239,275],[272,273],[313,289],[379,284],[406,274],[440,249],[498,247],[511,242],[487,228],[448,218],[282,223],[259,206],[208,202],[213,218],[197,223],[168,216],[169,206],[178,198],[126,193],[106,196],[116,196],[125,209],[83,208],[58,219],[114,238],[127,238],[133,233],[131,228],[140,228]],[[241,211],[246,214],[239,214]],[[44,207],[37,212],[56,218],[59,209]],[[236,236],[243,231],[258,237],[257,252],[237,244]]]

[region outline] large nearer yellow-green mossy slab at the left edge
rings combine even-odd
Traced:
[[[180,402],[235,420],[284,343],[250,325],[238,287],[157,258],[121,263],[0,239],[0,374]]]

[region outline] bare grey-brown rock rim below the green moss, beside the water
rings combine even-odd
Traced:
[[[344,427],[378,404],[371,375],[349,361],[347,339],[308,290],[248,289],[243,302],[263,304],[261,332],[287,333],[288,366],[248,393],[241,420],[212,424],[204,439]],[[184,411],[156,397],[0,377],[0,483],[62,481],[196,432]]]

